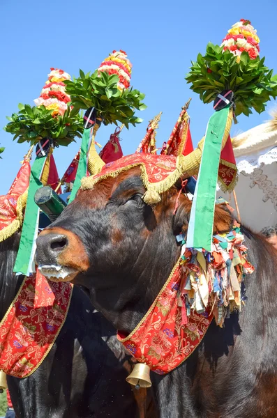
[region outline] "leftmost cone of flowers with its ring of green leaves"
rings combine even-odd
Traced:
[[[68,146],[75,137],[82,137],[82,117],[70,109],[70,95],[65,91],[64,82],[69,79],[63,70],[51,68],[40,97],[34,100],[36,106],[20,103],[20,111],[7,116],[10,123],[4,129],[13,134],[13,140],[37,144],[47,137],[56,145]]]

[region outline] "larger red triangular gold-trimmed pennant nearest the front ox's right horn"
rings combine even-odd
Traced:
[[[168,139],[166,148],[160,154],[188,155],[193,152],[193,141],[190,135],[190,120],[185,109],[179,114],[177,123],[175,123],[170,139]]]

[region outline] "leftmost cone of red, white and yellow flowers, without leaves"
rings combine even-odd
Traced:
[[[70,80],[70,75],[58,68],[50,68],[47,82],[43,87],[38,99],[33,100],[36,106],[44,106],[45,109],[52,110],[52,116],[63,115],[68,109],[70,95],[66,93],[65,80]]]

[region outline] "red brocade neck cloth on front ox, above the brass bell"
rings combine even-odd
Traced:
[[[178,261],[167,283],[135,330],[126,338],[117,333],[117,339],[129,353],[158,374],[169,373],[193,353],[213,318],[207,312],[191,312],[184,325],[184,306],[178,302],[180,269]]]

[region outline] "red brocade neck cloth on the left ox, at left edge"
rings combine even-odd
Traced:
[[[72,291],[72,284],[39,273],[24,279],[0,323],[0,369],[26,378],[40,366],[66,320]]]

